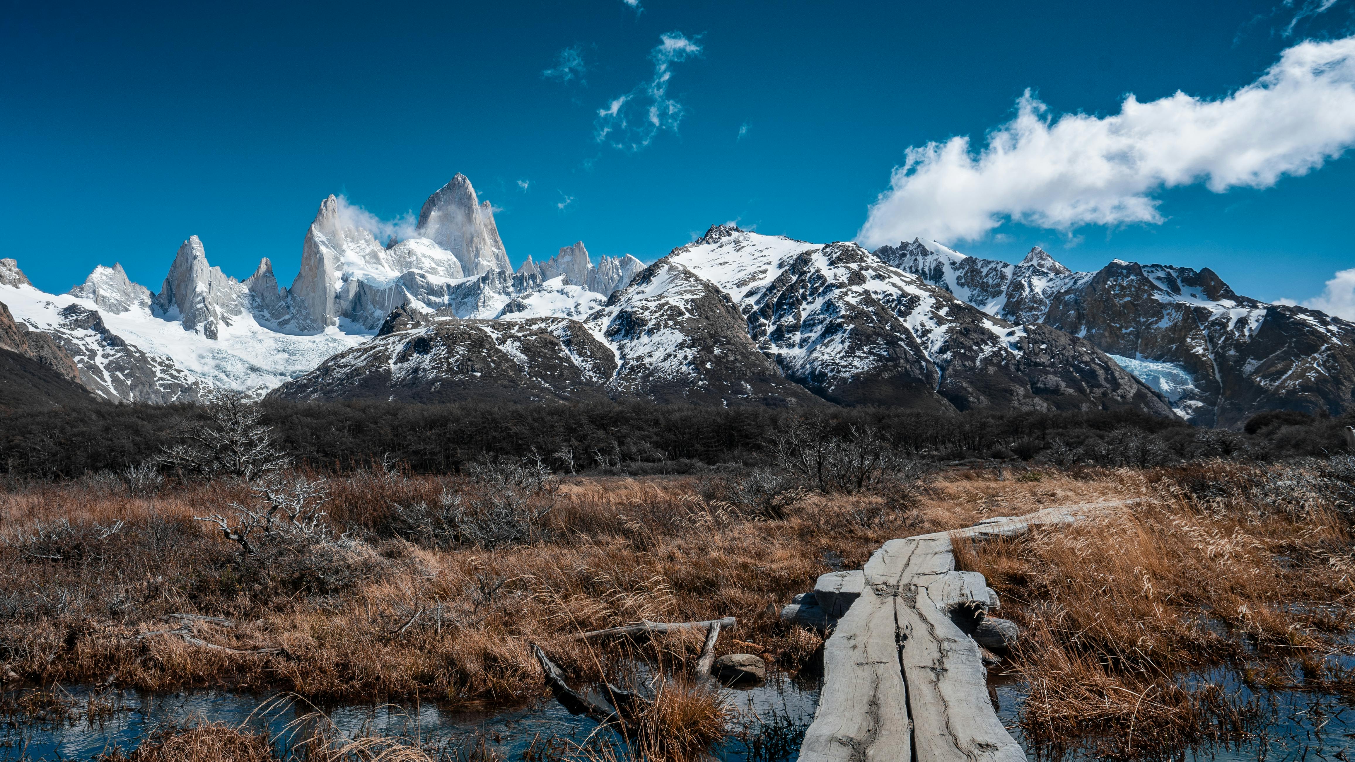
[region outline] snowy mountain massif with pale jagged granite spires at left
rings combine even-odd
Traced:
[[[263,393],[369,342],[398,306],[458,319],[583,317],[642,268],[633,256],[589,260],[566,247],[568,277],[514,274],[493,212],[463,175],[435,191],[416,236],[381,244],[329,197],[302,240],[291,287],[263,259],[238,281],[183,241],[157,293],[119,264],[99,266],[66,294],[47,294],[14,260],[0,262],[0,304],[50,336],[88,389],[118,401],[198,399],[210,388]],[[562,270],[561,258],[551,267]]]

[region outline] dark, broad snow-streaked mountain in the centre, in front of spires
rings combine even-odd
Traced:
[[[551,260],[565,279],[572,254]],[[985,315],[856,244],[725,225],[649,266],[583,320],[501,312],[467,321],[447,310],[401,310],[370,344],[274,395],[444,399],[447,384],[462,395],[473,388],[472,376],[489,378],[493,397],[519,400],[1134,407],[1169,415],[1083,339]]]

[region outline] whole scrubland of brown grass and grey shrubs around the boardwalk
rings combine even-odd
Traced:
[[[650,686],[654,705],[635,724],[648,729],[629,754],[691,758],[722,735],[726,712],[684,677],[702,633],[640,645],[573,636],[733,616],[717,654],[812,670],[820,635],[778,611],[820,574],[860,568],[894,537],[1103,500],[1123,503],[957,549],[1023,629],[996,671],[1028,685],[1020,723],[1033,744],[1133,757],[1243,738],[1264,717],[1215,685],[1224,673],[1257,691],[1355,685],[1335,660],[1348,651],[1355,594],[1347,457],[946,468],[852,431],[835,452],[824,449],[832,438],[783,438],[767,469],[572,475],[558,461],[485,457],[459,473],[392,461],[320,473],[290,464],[257,418],[230,426],[263,449],[205,466],[190,438],[140,470],[0,492],[9,687],[225,686],[484,708],[546,696],[530,651],[539,644],[581,682],[615,681],[637,656],[659,664],[668,679]],[[431,754],[324,734],[310,743],[350,759]],[[199,724],[115,754],[274,751],[245,731]]]

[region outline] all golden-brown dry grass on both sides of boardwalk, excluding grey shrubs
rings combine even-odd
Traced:
[[[528,643],[573,677],[600,679],[634,658],[634,645],[592,651],[570,635],[724,616],[737,617],[738,629],[720,652],[741,649],[740,639],[794,670],[821,641],[780,625],[775,610],[829,561],[860,568],[893,537],[1135,498],[1066,530],[957,549],[1026,632],[1011,668],[1030,685],[1027,738],[1049,753],[1083,744],[1129,757],[1152,743],[1236,738],[1255,723],[1255,706],[1182,675],[1224,667],[1255,686],[1347,690],[1325,655],[1351,624],[1351,521],[1309,479],[1313,466],[1286,468],[959,470],[912,502],[809,495],[775,519],[724,502],[728,491],[698,477],[577,477],[564,480],[534,541],[493,549],[382,529],[392,504],[431,503],[462,481],[358,473],[329,481],[335,529],[364,548],[337,582],[248,568],[220,533],[192,521],[243,499],[237,487],[130,498],[98,484],[37,484],[0,494],[0,675],[12,670],[39,685],[115,675],[122,687],[225,685],[327,700],[417,696],[472,708],[542,694]],[[60,519],[85,530],[123,526],[104,540],[89,530],[19,541]],[[138,637],[180,626],[161,618],[176,613],[236,622],[192,622],[198,641],[280,651]],[[657,674],[683,674],[699,640],[664,637],[642,658]],[[682,759],[725,732],[722,709],[702,691],[680,681],[654,687],[660,701],[646,720],[654,729],[631,739],[634,748]],[[622,751],[593,744],[570,754]]]

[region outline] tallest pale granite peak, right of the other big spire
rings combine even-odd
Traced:
[[[419,235],[450,251],[467,277],[491,270],[512,273],[504,252],[493,207],[476,197],[465,175],[438,188],[419,210]]]

